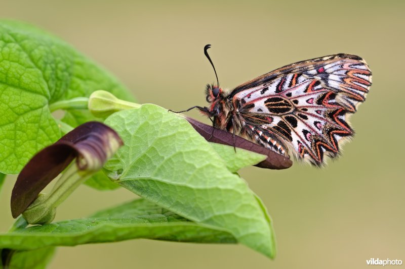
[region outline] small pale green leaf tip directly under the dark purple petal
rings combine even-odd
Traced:
[[[232,146],[217,143],[210,143],[210,145],[224,160],[226,167],[231,172],[236,172],[247,166],[256,165],[267,158],[265,155],[242,148],[235,149]]]

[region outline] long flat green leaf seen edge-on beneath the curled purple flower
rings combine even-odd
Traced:
[[[33,250],[134,238],[235,243],[229,233],[190,222],[144,199],[100,211],[88,219],[31,226],[0,234],[0,248]]]

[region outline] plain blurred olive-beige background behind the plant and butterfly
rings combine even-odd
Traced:
[[[0,17],[42,27],[100,63],[141,103],[183,110],[286,64],[338,52],[366,59],[367,101],[352,117],[356,136],[323,169],[240,172],[263,199],[278,242],[275,260],[240,245],[132,240],[61,247],[50,268],[362,268],[366,259],[405,262],[403,1],[9,1]],[[196,119],[203,117],[189,113]],[[208,122],[204,119],[205,122]],[[401,176],[402,175],[402,176]],[[12,224],[15,178],[0,197],[0,231]],[[57,219],[88,216],[134,198],[127,190],[80,187]],[[404,265],[402,265],[404,266]]]

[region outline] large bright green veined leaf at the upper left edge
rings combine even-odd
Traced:
[[[0,21],[0,172],[19,173],[34,153],[61,137],[48,105],[104,89],[132,100],[102,68],[28,24]],[[67,112],[79,123],[87,110]]]

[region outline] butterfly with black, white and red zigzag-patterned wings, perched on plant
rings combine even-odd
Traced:
[[[231,91],[206,86],[207,107],[193,106],[214,128],[227,130],[286,157],[325,164],[335,158],[354,131],[350,116],[372,84],[367,63],[339,53],[290,64],[241,84]],[[181,111],[181,112],[186,112]],[[179,112],[180,113],[180,112]]]

